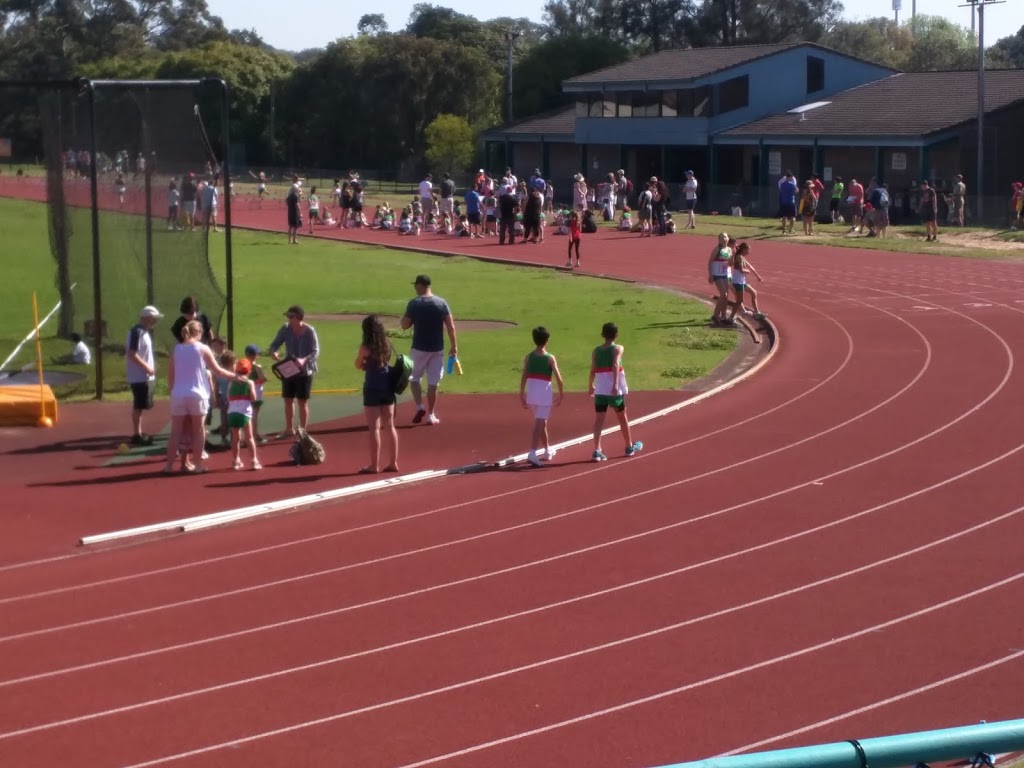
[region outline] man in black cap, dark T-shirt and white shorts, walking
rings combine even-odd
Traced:
[[[413,423],[419,424],[424,417],[427,424],[439,424],[440,419],[434,413],[437,402],[437,385],[441,381],[444,368],[444,332],[449,336],[449,354],[458,355],[456,344],[455,321],[447,302],[440,296],[434,296],[430,290],[430,276],[419,274],[413,283],[416,288],[416,298],[409,302],[406,314],[401,318],[401,328],[413,329],[413,348],[410,352],[413,358],[413,376],[409,388],[416,401],[416,415]],[[423,389],[421,379],[427,376],[427,404],[423,404]]]

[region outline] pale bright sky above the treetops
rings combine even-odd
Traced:
[[[374,3],[336,2],[334,0],[288,0],[287,9],[279,2],[253,0],[207,0],[210,10],[224,20],[228,29],[255,29],[260,37],[275,48],[300,51],[323,48],[339,37],[355,34],[364,13],[382,13],[392,31],[409,23],[409,14],[418,0],[376,0]],[[477,0],[424,0],[432,5],[454,8],[477,18],[484,18],[484,8],[490,4]],[[914,0],[900,0],[903,8],[900,20],[909,18]],[[971,9],[961,8],[966,0],[916,0],[918,12],[945,16],[964,27],[971,26]],[[891,16],[893,0],[846,0],[846,18],[863,19]],[[525,16],[540,23],[545,0],[519,0],[507,10],[493,16]],[[985,44],[1014,35],[1024,27],[1024,0],[1007,0],[985,10]]]

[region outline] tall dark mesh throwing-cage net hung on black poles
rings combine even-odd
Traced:
[[[32,168],[0,176],[0,196],[46,204],[56,333],[92,347],[97,398],[124,386],[128,332],[143,306],[167,317],[153,333],[158,356],[174,346],[169,329],[185,296],[232,341],[227,97],[217,79],[0,81],[0,136]],[[216,218],[205,215],[207,185]]]

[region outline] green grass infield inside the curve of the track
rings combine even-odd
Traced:
[[[141,217],[105,213],[101,217],[101,242],[105,244],[104,283],[124,280],[137,268],[137,253],[129,252],[116,232],[135,226]],[[4,266],[7,280],[0,284],[0,354],[6,356],[32,329],[32,292],[39,295],[40,314],[57,301],[55,267],[50,255],[45,208],[22,201],[0,201],[0,231],[6,233]],[[83,228],[82,237],[88,238]],[[154,232],[155,258],[167,253],[175,238],[198,237]],[[217,281],[224,283],[223,236],[213,239],[212,266]],[[634,389],[670,389],[705,375],[721,362],[736,344],[736,334],[706,327],[707,305],[665,291],[595,278],[577,276],[552,269],[502,266],[468,258],[402,253],[372,246],[346,245],[304,239],[299,248],[266,233],[234,232],[233,278],[236,292],[234,345],[265,347],[284,322],[282,313],[294,303],[307,314],[333,315],[370,312],[400,315],[414,296],[413,279],[427,272],[435,292],[452,306],[460,321],[502,321],[515,324],[497,330],[459,333],[462,377],[452,377],[444,387],[453,392],[517,391],[522,356],[530,349],[530,329],[546,326],[552,333],[550,349],[558,358],[569,390],[587,386],[590,350],[600,342],[600,328],[612,321],[621,329],[627,347],[630,386]],[[182,271],[174,295],[189,293],[189,275]],[[124,291],[144,297],[137,285]],[[77,297],[86,301],[88,296]],[[159,341],[169,340],[168,328],[177,316],[177,300],[160,306],[167,317],[158,325]],[[126,302],[124,311],[137,312],[138,300]],[[317,389],[355,388],[361,374],[353,359],[359,344],[357,321],[310,321],[321,341],[321,374]],[[224,326],[222,324],[221,330]],[[70,344],[54,337],[55,322],[43,331],[43,357],[49,370],[82,373],[82,367],[54,365]],[[409,347],[408,334],[394,332],[399,351]],[[164,337],[163,335],[167,336]],[[112,338],[117,344],[120,339]],[[17,366],[34,360],[32,344],[26,346]],[[121,396],[124,389],[120,355],[104,357],[105,391]],[[158,367],[159,364],[158,364]],[[92,394],[92,373],[85,381],[58,389],[61,397]]]

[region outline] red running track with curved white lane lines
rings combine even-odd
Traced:
[[[624,240],[588,268],[705,291],[706,240]],[[640,768],[1018,717],[1024,270],[754,250],[778,354],[636,458],[0,570],[0,765]]]

